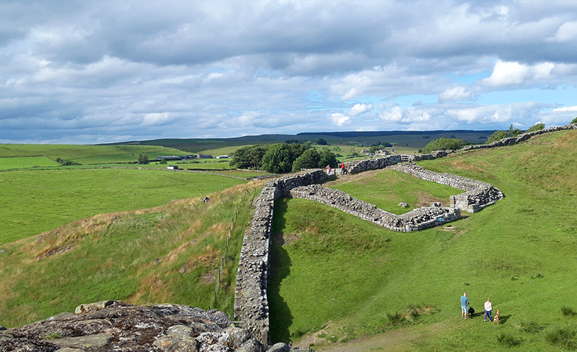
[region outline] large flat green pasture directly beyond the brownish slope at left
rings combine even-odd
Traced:
[[[125,168],[0,172],[0,244],[91,215],[151,208],[242,182],[196,172]]]

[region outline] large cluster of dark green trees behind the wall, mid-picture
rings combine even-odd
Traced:
[[[241,169],[265,170],[286,173],[305,168],[336,167],[334,153],[328,149],[317,151],[305,144],[258,144],[237,149],[232,155],[231,166]]]

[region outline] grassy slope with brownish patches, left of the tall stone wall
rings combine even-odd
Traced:
[[[260,187],[241,184],[209,194],[208,203],[183,199],[96,215],[1,245],[0,325],[23,325],[105,299],[232,314],[243,232]]]

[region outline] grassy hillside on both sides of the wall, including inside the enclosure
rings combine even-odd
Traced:
[[[576,150],[573,130],[419,162],[505,194],[479,213],[421,232],[391,232],[319,203],[279,200],[268,289],[272,339],[315,351],[575,349]],[[400,199],[418,205],[448,194],[420,191],[421,180],[395,170],[324,185],[391,210]],[[102,299],[232,312],[239,246],[260,187],[239,184],[210,194],[209,203],[185,199],[97,215],[1,245],[0,325]],[[477,311],[467,321],[457,303],[464,291]],[[500,325],[478,314],[487,298],[501,312]]]

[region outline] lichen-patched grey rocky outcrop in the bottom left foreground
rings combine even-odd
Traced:
[[[0,332],[0,351],[265,352],[226,314],[177,304],[133,306],[102,301]]]

